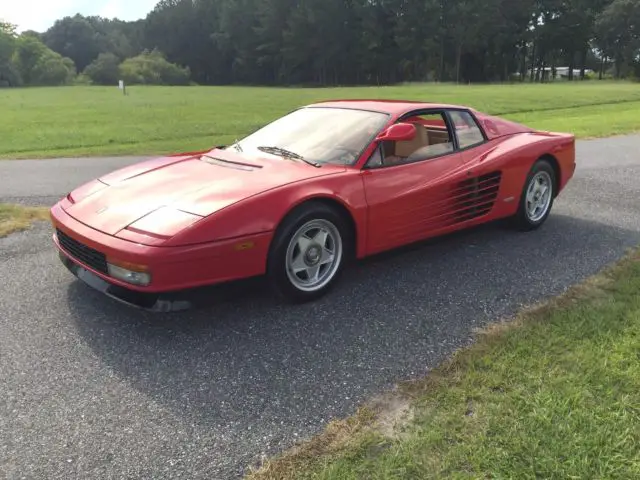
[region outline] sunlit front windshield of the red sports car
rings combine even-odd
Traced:
[[[284,149],[318,164],[352,165],[388,118],[387,114],[364,110],[301,108],[228,148],[235,148],[243,155],[264,156],[267,152],[291,158],[282,153]]]

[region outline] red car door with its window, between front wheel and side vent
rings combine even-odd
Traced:
[[[443,111],[416,112],[402,121],[416,125],[416,139],[381,144],[362,174],[369,253],[427,238],[446,226],[441,216],[452,201],[452,185],[464,180],[464,162]]]

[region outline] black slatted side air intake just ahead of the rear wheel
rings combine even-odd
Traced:
[[[460,182],[454,188],[455,220],[466,222],[488,214],[498,198],[502,172],[491,172]]]

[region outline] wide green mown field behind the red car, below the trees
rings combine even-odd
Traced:
[[[640,130],[640,84],[262,88],[57,87],[0,90],[0,158],[159,154],[240,137],[317,100],[390,98],[470,105],[579,137]]]

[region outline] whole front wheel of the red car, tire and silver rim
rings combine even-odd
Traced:
[[[321,297],[336,283],[350,242],[338,211],[322,203],[302,205],[276,232],[267,261],[271,286],[292,302]]]

